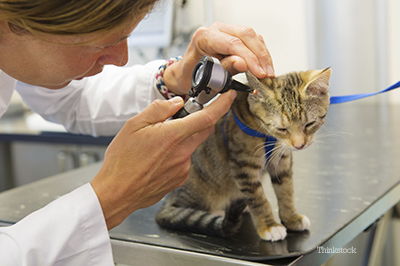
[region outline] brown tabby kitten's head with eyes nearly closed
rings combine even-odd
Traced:
[[[260,131],[291,150],[307,148],[324,124],[329,106],[331,69],[293,72],[258,80],[246,73],[254,93],[248,96],[250,111]]]

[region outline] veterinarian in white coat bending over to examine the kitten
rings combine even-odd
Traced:
[[[198,29],[182,58],[114,67],[127,63],[127,37],[156,2],[0,0],[0,116],[16,89],[70,132],[116,134],[90,183],[0,228],[1,265],[114,265],[108,230],[185,183],[192,152],[235,98],[166,121],[195,64],[206,54],[232,73],[274,76],[262,38],[221,23]]]

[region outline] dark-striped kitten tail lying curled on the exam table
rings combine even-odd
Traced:
[[[157,223],[166,228],[229,237],[237,233],[242,223],[242,212],[246,208],[245,199],[233,201],[225,210],[225,216],[207,211],[164,204],[157,213]]]

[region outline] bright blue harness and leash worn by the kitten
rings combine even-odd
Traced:
[[[366,97],[370,97],[370,96],[374,96],[380,93],[384,93],[387,91],[391,91],[393,89],[396,89],[400,87],[400,81],[397,82],[396,84],[393,84],[392,86],[378,91],[378,92],[372,92],[372,93],[360,93],[360,94],[353,94],[353,95],[344,95],[344,96],[333,96],[330,98],[330,104],[338,104],[338,103],[345,103],[345,102],[350,102],[350,101],[354,101],[354,100],[358,100],[358,99],[362,99],[362,98],[366,98]],[[261,133],[257,130],[254,130],[252,128],[249,128],[248,126],[246,126],[245,124],[242,123],[242,121],[239,120],[239,118],[235,115],[235,113],[232,110],[232,115],[233,118],[235,119],[236,124],[239,126],[239,128],[246,133],[249,136],[252,137],[258,137],[258,138],[265,138],[265,159],[266,162],[268,162],[271,154],[272,154],[272,149],[275,147],[275,143],[276,143],[276,138],[272,137],[272,136],[268,136],[265,135],[264,133]],[[222,125],[222,135],[224,137],[224,141],[225,144],[228,146],[228,142],[226,140],[225,137],[225,122],[226,119],[228,118],[228,114],[225,115],[225,120],[224,123]]]

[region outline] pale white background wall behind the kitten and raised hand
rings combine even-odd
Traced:
[[[400,79],[398,11],[398,0],[187,0],[175,13],[178,44],[162,55],[184,53],[199,26],[245,25],[264,37],[278,75],[330,66],[331,95],[373,92]],[[160,56],[148,48],[141,52]],[[400,103],[400,90],[363,101]]]

